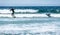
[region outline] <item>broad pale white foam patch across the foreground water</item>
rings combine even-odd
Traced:
[[[45,29],[45,30],[44,30]],[[56,26],[54,24],[26,24],[26,25],[19,25],[19,24],[8,24],[4,26],[0,26],[0,33],[10,33],[10,34],[17,34],[17,33],[41,33],[41,32],[55,32]]]

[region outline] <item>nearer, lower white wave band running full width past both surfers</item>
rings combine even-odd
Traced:
[[[15,14],[16,17],[48,17],[46,14]],[[51,14],[51,17],[60,17],[60,14]],[[0,14],[0,17],[13,17],[11,14]]]

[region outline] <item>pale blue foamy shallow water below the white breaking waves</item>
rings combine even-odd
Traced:
[[[60,17],[0,17],[0,35],[60,35]]]

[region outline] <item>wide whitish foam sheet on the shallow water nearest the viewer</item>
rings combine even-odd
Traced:
[[[55,32],[56,27],[55,25],[47,25],[47,26],[38,26],[40,24],[34,24],[34,25],[14,25],[14,24],[9,24],[9,25],[4,25],[4,26],[0,26],[0,32],[16,32],[16,31],[28,31],[30,30],[30,32],[34,33],[34,32],[48,32],[48,31],[52,31]],[[16,32],[17,33],[17,32]]]

